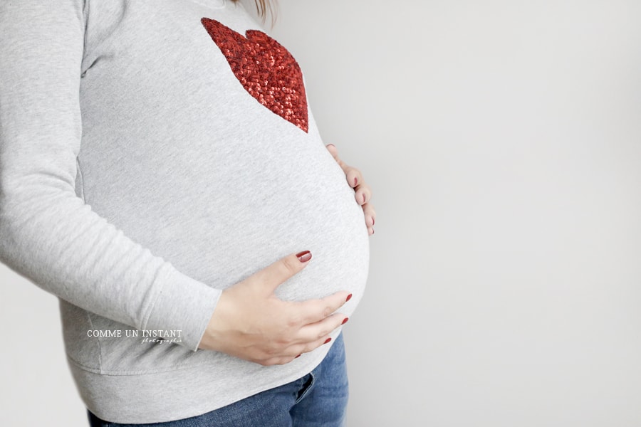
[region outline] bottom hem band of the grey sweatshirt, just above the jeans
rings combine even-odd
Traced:
[[[105,374],[67,357],[85,406],[112,423],[160,423],[199,416],[305,376],[323,361],[330,345],[273,367],[234,359],[160,372]],[[225,356],[226,357],[226,356]]]

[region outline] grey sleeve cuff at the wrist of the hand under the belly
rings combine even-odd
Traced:
[[[163,271],[162,288],[150,309],[144,330],[179,330],[184,347],[196,351],[222,290],[212,288],[171,267]]]

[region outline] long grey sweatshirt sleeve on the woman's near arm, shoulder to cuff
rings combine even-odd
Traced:
[[[0,260],[73,305],[196,350],[220,291],[75,194],[82,0],[0,2]]]

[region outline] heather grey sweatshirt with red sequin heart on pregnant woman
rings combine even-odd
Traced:
[[[273,367],[197,349],[224,288],[303,250],[277,295],[348,290],[350,315],[363,212],[242,6],[0,1],[0,260],[59,298],[91,411],[187,418],[311,371],[329,344]]]

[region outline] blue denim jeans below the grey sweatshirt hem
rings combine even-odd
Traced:
[[[343,334],[306,376],[203,415],[152,424],[103,421],[88,412],[90,427],[341,427],[348,401]]]

